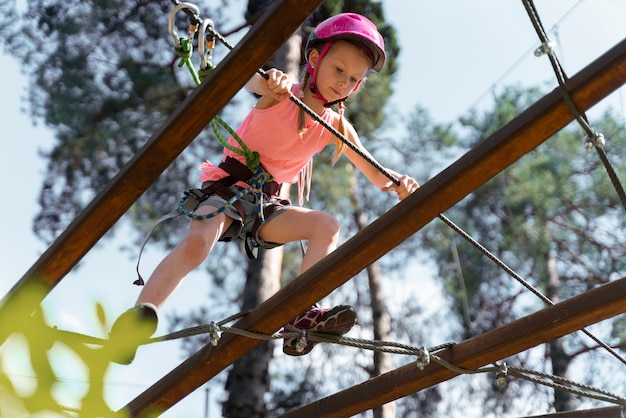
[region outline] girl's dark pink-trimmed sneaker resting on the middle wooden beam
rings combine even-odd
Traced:
[[[325,334],[344,335],[356,323],[356,312],[350,305],[339,305],[334,308],[319,308],[312,306],[296,317],[288,325],[294,328],[321,332]],[[283,333],[291,332],[289,327],[282,330]],[[302,351],[298,351],[297,337],[285,338],[283,353],[290,356],[303,356],[308,354],[318,341],[307,341]]]

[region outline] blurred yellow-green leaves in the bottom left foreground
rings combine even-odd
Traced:
[[[40,292],[45,289],[32,285],[22,292],[26,295],[22,298],[41,300]],[[22,306],[32,305],[13,298],[3,306],[3,317],[12,320],[0,322],[0,416],[127,417],[124,411],[112,411],[104,400],[104,379],[110,365],[104,340],[59,331],[47,324],[41,309],[24,312]],[[107,329],[102,306],[95,308],[102,329]],[[18,370],[18,365],[23,368]],[[32,371],[29,377],[34,384],[23,383],[26,367]],[[59,401],[63,378],[58,372],[77,369],[89,376],[84,394],[73,399],[66,394]]]

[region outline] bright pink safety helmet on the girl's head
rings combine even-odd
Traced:
[[[378,72],[383,67],[386,57],[383,36],[371,20],[357,13],[340,13],[317,25],[306,44],[306,59],[315,46],[337,39],[363,45],[372,58],[372,70]]]

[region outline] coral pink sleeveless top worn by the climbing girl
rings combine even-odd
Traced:
[[[300,85],[294,85],[297,94]],[[299,107],[291,100],[283,100],[267,109],[251,110],[237,129],[237,134],[251,151],[259,153],[263,168],[279,183],[298,183],[302,201],[303,185],[310,182],[312,157],[328,145],[332,133],[321,123],[306,115],[306,128],[298,132]],[[324,109],[320,117],[331,126],[339,119],[337,112]],[[234,138],[228,143],[239,148]],[[246,164],[244,156],[224,148],[227,156]],[[215,181],[228,174],[206,161],[200,166],[200,181]]]

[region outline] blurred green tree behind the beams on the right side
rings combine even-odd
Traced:
[[[442,144],[469,150],[539,97],[537,89],[506,88],[494,108],[461,119],[459,140]],[[623,126],[607,112],[596,129],[610,138],[612,161],[624,158]],[[425,144],[427,145],[427,144]],[[621,167],[615,167],[623,175]],[[585,292],[623,271],[623,202],[595,153],[584,152],[580,129],[563,130],[524,156],[448,211],[448,217],[553,302]],[[441,224],[421,235],[437,260],[439,276],[463,324],[461,338],[501,326],[541,309],[528,293],[494,263]],[[623,347],[623,339],[613,341]],[[598,347],[590,340],[566,336],[544,347],[545,371],[568,377],[575,360]],[[537,365],[528,353],[516,361]],[[528,366],[530,367],[530,366]],[[593,375],[589,381],[595,381]],[[521,386],[521,385],[520,385]],[[517,389],[515,389],[517,388]],[[509,385],[485,393],[485,412],[504,411],[513,392]],[[506,398],[503,398],[506,396]],[[571,410],[577,400],[555,391],[552,407]]]

